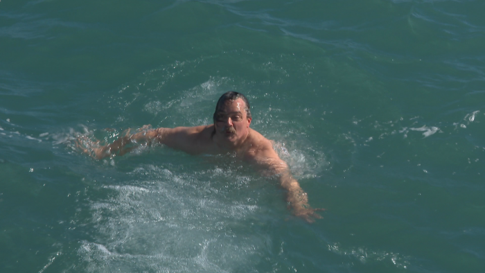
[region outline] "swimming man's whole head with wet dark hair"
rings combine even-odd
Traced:
[[[249,134],[251,112],[247,98],[238,92],[224,93],[215,105],[215,134],[232,146],[242,143]]]

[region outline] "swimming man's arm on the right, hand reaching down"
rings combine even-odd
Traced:
[[[279,158],[270,143],[263,146],[261,150],[254,152],[252,157],[254,159],[252,161],[258,167],[269,170],[272,175],[277,175],[280,186],[287,191],[286,201],[294,215],[307,222],[315,222],[315,219],[322,218],[316,211],[323,211],[324,209],[313,209],[308,204],[308,195],[300,187],[297,179],[294,179],[291,175],[288,164]]]

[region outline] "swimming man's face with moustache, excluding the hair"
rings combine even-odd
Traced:
[[[231,143],[244,140],[249,132],[251,118],[247,118],[246,105],[241,98],[227,100],[215,115],[215,132]]]

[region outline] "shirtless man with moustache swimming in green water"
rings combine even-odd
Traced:
[[[92,156],[96,159],[103,159],[116,153],[125,154],[132,149],[125,148],[127,144],[146,141],[161,143],[193,155],[235,152],[236,158],[278,177],[281,187],[288,191],[286,200],[294,215],[308,222],[321,218],[316,213],[321,209],[310,207],[307,194],[292,177],[285,161],[276,154],[271,141],[249,127],[252,116],[249,102],[243,94],[234,91],[223,94],[215,107],[213,120],[211,125],[195,127],[149,129],[143,126],[141,132],[132,135],[127,133],[107,146],[84,147],[83,150],[89,154],[93,152]]]

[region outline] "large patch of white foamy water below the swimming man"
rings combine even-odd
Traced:
[[[101,187],[109,197],[89,205],[98,234],[78,254],[87,272],[254,271],[270,240],[254,228],[274,217],[258,179],[226,166],[136,168]]]

